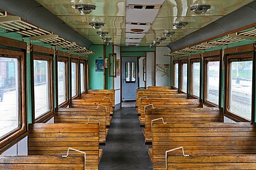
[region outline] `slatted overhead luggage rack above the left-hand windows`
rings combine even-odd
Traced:
[[[67,50],[75,51],[78,54],[95,54],[85,47],[76,45],[75,42],[65,40],[52,32],[22,21],[19,16],[8,15],[6,12],[0,15],[0,28],[3,28],[6,33],[20,33],[23,37],[30,37],[32,41],[39,40],[43,43],[50,43],[52,46],[63,47]]]

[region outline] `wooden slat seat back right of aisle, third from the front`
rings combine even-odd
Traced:
[[[145,109],[145,142],[152,142],[152,120],[163,118],[166,123],[223,122],[222,109],[219,108],[146,108]],[[156,120],[154,123],[162,122]]]

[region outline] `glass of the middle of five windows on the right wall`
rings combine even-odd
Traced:
[[[200,94],[200,62],[192,63],[192,94],[199,98],[199,94]]]

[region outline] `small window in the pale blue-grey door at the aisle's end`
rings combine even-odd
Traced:
[[[136,81],[136,63],[135,62],[125,63],[125,81],[126,82]]]

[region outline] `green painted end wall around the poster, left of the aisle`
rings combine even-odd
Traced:
[[[95,60],[102,59],[103,45],[92,45],[90,50],[96,54],[90,55],[88,58],[88,69],[89,69],[89,89],[104,89],[104,72],[95,71]]]

